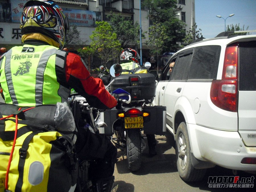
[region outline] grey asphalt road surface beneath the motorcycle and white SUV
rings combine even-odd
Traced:
[[[148,156],[146,141],[146,148],[142,152],[141,168],[137,172],[131,172],[128,169],[126,156],[123,151],[118,149],[113,192],[256,191],[255,185],[253,188],[210,188],[208,186],[210,176],[234,176],[232,170],[219,166],[208,169],[202,181],[185,182],[179,177],[176,167],[174,139],[171,133],[157,135],[156,141],[158,154],[151,158]],[[245,172],[238,172],[237,175],[256,178],[256,175]]]

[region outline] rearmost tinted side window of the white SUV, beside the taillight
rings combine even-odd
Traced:
[[[188,79],[216,79],[221,46],[195,47]]]

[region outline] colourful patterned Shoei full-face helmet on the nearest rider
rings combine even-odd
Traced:
[[[59,43],[63,48],[69,28],[67,17],[61,7],[50,0],[28,1],[20,20],[21,34],[41,33]]]

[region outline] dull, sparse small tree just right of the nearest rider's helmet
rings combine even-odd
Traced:
[[[82,41],[80,38],[80,31],[77,30],[76,25],[69,26],[69,30],[67,30],[66,36],[66,47],[75,46],[75,45],[84,45],[86,41]]]

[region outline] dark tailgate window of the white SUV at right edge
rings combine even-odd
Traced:
[[[239,90],[256,91],[256,41],[239,43]]]

